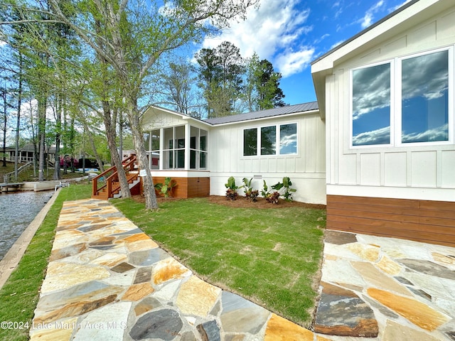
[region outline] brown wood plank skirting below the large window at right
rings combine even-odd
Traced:
[[[327,195],[327,229],[455,247],[455,202]]]

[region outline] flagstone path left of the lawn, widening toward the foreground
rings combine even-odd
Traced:
[[[63,205],[30,336],[32,341],[316,337],[200,280],[102,200]]]

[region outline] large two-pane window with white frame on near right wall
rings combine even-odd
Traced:
[[[454,49],[358,67],[351,79],[351,146],[454,139]]]

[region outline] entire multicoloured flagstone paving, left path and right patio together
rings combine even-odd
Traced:
[[[102,200],[65,202],[31,340],[455,340],[455,249],[326,231],[314,331],[201,281]]]

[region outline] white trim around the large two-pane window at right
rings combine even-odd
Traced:
[[[448,91],[448,125],[449,138],[448,141],[428,141],[428,142],[410,142],[402,143],[402,60],[419,57],[420,55],[429,55],[441,51],[449,53],[449,91]],[[372,144],[365,146],[353,146],[353,71],[364,69],[365,67],[373,67],[376,65],[390,64],[390,144]],[[349,70],[349,148],[350,149],[371,149],[371,148],[391,148],[391,147],[412,147],[412,146],[446,146],[455,143],[455,53],[454,45],[449,45],[442,48],[425,50],[419,53],[403,55],[392,60],[383,60],[378,63],[353,67]]]

